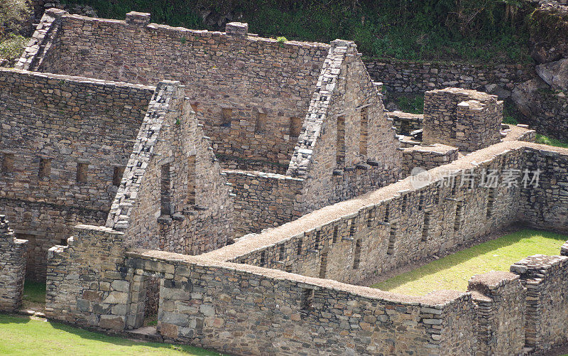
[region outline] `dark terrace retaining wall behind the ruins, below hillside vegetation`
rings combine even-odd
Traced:
[[[364,62],[373,80],[383,82],[388,90],[412,94],[460,87],[503,96],[500,92],[507,91],[510,95],[515,85],[535,77],[535,66],[532,64],[489,66],[395,59],[365,59]]]

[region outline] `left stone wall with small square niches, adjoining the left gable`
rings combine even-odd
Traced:
[[[0,70],[0,207],[30,240],[31,278],[45,278],[48,249],[72,225],[104,221],[152,92]]]

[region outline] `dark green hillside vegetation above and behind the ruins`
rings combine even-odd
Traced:
[[[288,39],[356,41],[368,57],[523,63],[528,55],[523,0],[66,0],[92,6],[100,17],[129,11],[155,23],[219,30],[249,23],[251,33]]]

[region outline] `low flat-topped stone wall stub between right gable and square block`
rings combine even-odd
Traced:
[[[410,176],[414,168],[426,171],[444,164],[453,162],[458,158],[457,147],[442,144],[431,146],[413,146],[403,150],[403,178]]]

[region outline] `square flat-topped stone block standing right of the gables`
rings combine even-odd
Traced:
[[[424,144],[473,152],[501,141],[503,102],[473,90],[431,90],[424,97]]]

